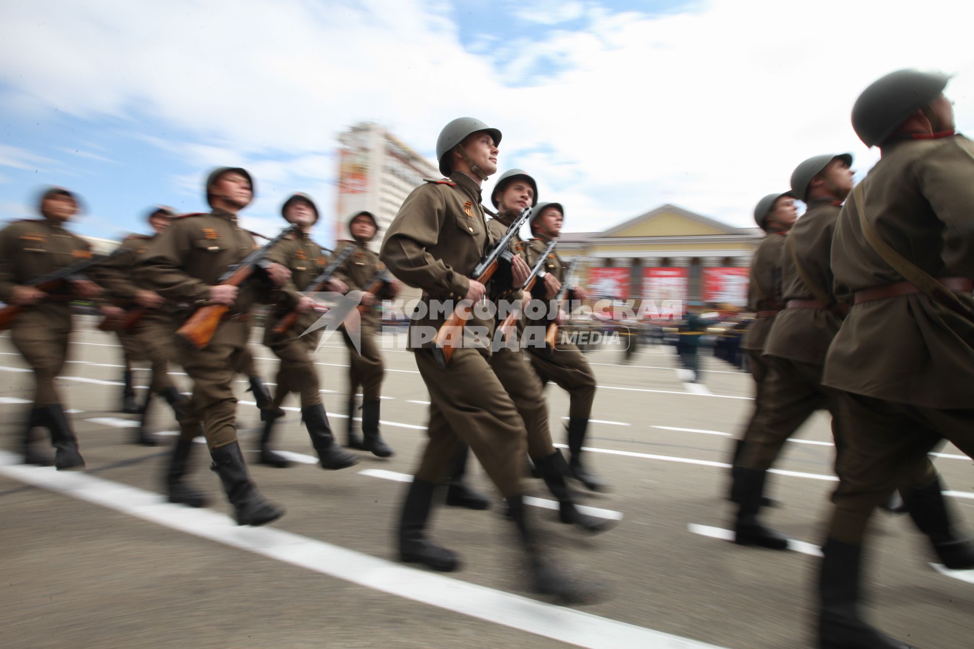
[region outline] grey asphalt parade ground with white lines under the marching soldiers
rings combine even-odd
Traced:
[[[31,378],[0,338],[0,646],[47,647],[639,647],[794,649],[811,647],[817,544],[835,487],[829,419],[814,415],[768,481],[782,506],[766,522],[796,539],[789,551],[726,540],[724,500],[732,436],[753,408],[752,381],[709,355],[701,381],[685,382],[672,347],[644,345],[588,354],[598,377],[587,440],[589,465],[607,493],[578,486],[589,513],[618,527],[588,536],[557,522],[541,481],[530,480],[530,514],[559,565],[600,585],[595,603],[559,606],[526,590],[522,557],[503,507],[486,512],[440,506],[429,533],[462,559],[442,574],[396,562],[393,528],[425,442],[429,395],[412,354],[383,339],[383,436],[389,459],[361,453],[342,471],[322,471],[300,425],[297,396],[284,406],[277,448],[289,469],[250,465],[251,477],[286,515],[267,527],[228,517],[206,447],[191,481],[210,505],[192,510],[162,496],[174,440],[159,401],[162,446],[131,444],[137,415],[121,400],[121,347],[76,319],[71,362],[58,384],[71,409],[84,473],[19,465],[17,439]],[[260,340],[255,330],[252,340]],[[274,382],[277,359],[254,355]],[[325,408],[344,439],[348,354],[335,335],[316,354]],[[525,371],[530,371],[526,365]],[[173,368],[178,373],[178,368]],[[136,371],[147,384],[148,372]],[[188,389],[184,375],[174,379]],[[238,380],[238,421],[255,458],[259,414]],[[144,394],[144,388],[138,390]],[[563,443],[567,395],[547,390],[556,443]],[[952,446],[935,462],[958,524],[974,521],[974,472]],[[471,483],[494,494],[470,462]],[[908,517],[879,513],[867,554],[867,617],[922,649],[974,644],[974,571],[934,560]]]

